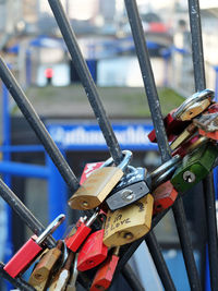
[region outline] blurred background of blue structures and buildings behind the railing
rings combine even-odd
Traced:
[[[160,158],[147,138],[153,124],[124,1],[62,0],[62,4],[121,147],[133,150],[133,166],[152,171]],[[182,0],[138,0],[137,4],[162,113],[167,114],[194,93],[187,4]],[[207,87],[217,94],[217,1],[201,0],[201,11]],[[0,0],[0,50],[76,177],[80,179],[86,162],[107,159],[107,146],[46,0]],[[2,83],[0,89],[2,178],[44,225],[62,211],[68,214],[68,225],[72,223],[80,213],[66,208],[71,193]],[[33,172],[26,166],[33,166]],[[41,173],[49,169],[49,174],[37,175],[34,167],[38,166]],[[192,199],[189,197],[186,216],[205,280],[206,230],[204,223],[196,228],[204,209],[196,207],[199,196],[192,193]],[[0,258],[7,262],[29,232],[2,201],[0,209]],[[155,232],[177,289],[189,290],[171,214]],[[155,290],[154,286],[162,290],[152,262],[148,276],[143,276],[145,257],[150,259],[143,250],[132,264],[146,290]]]

